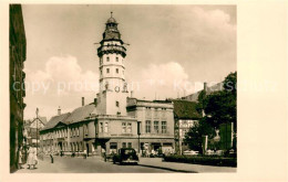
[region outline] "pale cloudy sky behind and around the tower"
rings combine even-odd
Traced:
[[[125,78],[140,99],[176,98],[237,69],[236,6],[23,4],[24,119],[72,111],[96,97],[105,22],[130,44]]]

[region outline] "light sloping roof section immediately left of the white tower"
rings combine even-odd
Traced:
[[[94,104],[85,105],[74,109],[71,115],[65,119],[66,122],[74,124],[84,120],[91,115],[95,115],[96,106]]]

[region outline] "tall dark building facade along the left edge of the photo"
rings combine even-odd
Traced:
[[[23,110],[25,104],[25,31],[20,4],[10,4],[9,22],[10,85],[10,172],[18,167],[18,149],[23,144]]]

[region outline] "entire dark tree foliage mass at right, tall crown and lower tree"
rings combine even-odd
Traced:
[[[212,139],[215,128],[220,124],[234,122],[237,126],[237,73],[230,73],[224,81],[224,89],[207,94],[203,90],[198,96],[196,109],[204,110],[203,117],[195,127],[186,133],[184,141],[193,150],[202,152],[203,136]],[[236,131],[237,127],[235,127]]]

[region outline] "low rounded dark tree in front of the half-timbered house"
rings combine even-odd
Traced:
[[[192,150],[203,152],[203,136],[208,136],[212,139],[215,136],[214,128],[206,121],[206,118],[200,119],[198,122],[192,127],[184,138],[184,142],[186,142]]]

